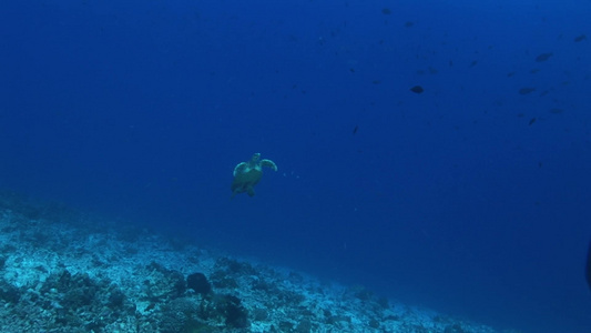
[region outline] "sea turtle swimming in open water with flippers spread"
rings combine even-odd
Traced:
[[[277,165],[271,160],[261,160],[261,153],[255,153],[251,161],[241,162],[234,168],[234,181],[232,182],[232,198],[237,193],[254,195],[254,186],[263,176],[263,167],[277,171]]]

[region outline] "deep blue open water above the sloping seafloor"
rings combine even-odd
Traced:
[[[3,1],[0,186],[591,332],[591,2],[568,2]],[[254,152],[279,171],[230,200]]]

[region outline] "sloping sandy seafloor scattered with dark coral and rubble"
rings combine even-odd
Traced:
[[[0,332],[500,331],[2,194]]]

